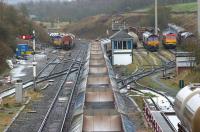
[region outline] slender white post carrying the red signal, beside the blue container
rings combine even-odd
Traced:
[[[33,88],[36,91],[35,30],[33,30]]]

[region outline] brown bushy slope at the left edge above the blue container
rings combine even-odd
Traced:
[[[0,73],[6,67],[5,60],[14,54],[16,37],[23,34],[31,34],[35,29],[39,33],[41,41],[47,41],[48,37],[43,28],[34,24],[27,14],[0,2]]]

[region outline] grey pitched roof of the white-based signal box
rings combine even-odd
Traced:
[[[132,36],[130,36],[127,32],[125,32],[124,30],[120,30],[118,32],[116,32],[115,34],[113,34],[110,37],[111,40],[123,40],[123,39],[133,39]]]

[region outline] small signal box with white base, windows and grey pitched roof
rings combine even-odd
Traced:
[[[133,62],[133,37],[120,30],[111,37],[112,65],[128,65]]]

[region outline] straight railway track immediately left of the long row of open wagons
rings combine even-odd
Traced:
[[[63,124],[68,116],[70,107],[74,100],[73,97],[75,96],[76,84],[80,75],[82,63],[78,64],[78,71],[77,71],[78,74],[77,75],[76,73],[74,74],[76,76],[75,78],[73,79],[70,78],[70,75],[71,75],[70,71],[73,70],[74,66],[77,66],[76,60],[79,60],[82,62],[84,58],[83,55],[85,54],[83,52],[85,51],[79,52],[79,55],[76,57],[75,61],[73,61],[71,65],[69,66],[69,70],[67,74],[64,76],[64,78],[62,79],[62,83],[59,86],[59,89],[45,115],[45,118],[38,132],[52,131],[52,127],[53,127],[53,131],[62,131],[62,129],[64,128]],[[80,60],[80,58],[82,59]],[[74,80],[73,86],[71,88],[66,86],[66,83],[69,80]],[[61,97],[64,98],[63,101],[59,101]]]

